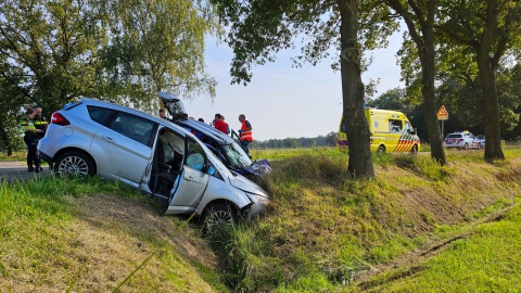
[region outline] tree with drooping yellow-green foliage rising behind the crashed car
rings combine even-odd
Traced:
[[[193,98],[215,95],[216,81],[205,73],[204,38],[220,34],[206,1],[112,0],[111,44],[103,51],[103,74],[111,95],[126,93],[134,104],[166,90]]]

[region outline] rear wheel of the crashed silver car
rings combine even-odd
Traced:
[[[65,152],[54,164],[54,174],[59,176],[93,176],[94,163],[89,155],[78,151]]]

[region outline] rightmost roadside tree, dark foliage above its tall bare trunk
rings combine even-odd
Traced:
[[[485,160],[505,158],[496,74],[501,58],[519,48],[521,3],[510,0],[441,1],[440,27],[449,47],[465,46],[478,64],[483,92]],[[461,52],[459,50],[458,52]],[[465,51],[463,51],[465,52]]]

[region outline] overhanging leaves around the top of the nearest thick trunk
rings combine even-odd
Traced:
[[[232,84],[249,84],[255,64],[272,62],[284,49],[297,48],[294,65],[316,65],[330,59],[340,68],[340,11],[335,1],[213,0],[220,20],[229,26],[226,41],[233,49]],[[367,50],[386,44],[397,29],[389,9],[380,1],[360,1],[358,36]]]

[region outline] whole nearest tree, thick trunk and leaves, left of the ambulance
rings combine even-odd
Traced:
[[[316,64],[330,55],[342,79],[343,113],[350,141],[348,170],[354,177],[374,177],[369,150],[369,129],[364,113],[365,49],[396,29],[387,11],[371,0],[212,0],[218,4],[220,18],[228,25],[227,42],[233,49],[232,82],[247,84],[252,65],[274,61],[276,53],[297,46],[302,40],[301,62]],[[331,50],[332,49],[332,50]],[[298,85],[295,85],[296,87]]]

